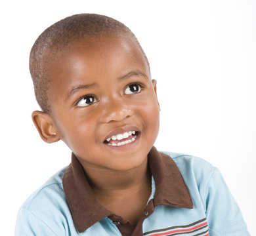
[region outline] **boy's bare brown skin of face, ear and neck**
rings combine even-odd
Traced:
[[[41,138],[65,142],[100,204],[136,225],[151,193],[147,155],[160,111],[156,81],[137,42],[117,33],[87,37],[66,45],[45,69],[51,111],[32,113]],[[137,131],[134,142],[106,144],[129,131]]]

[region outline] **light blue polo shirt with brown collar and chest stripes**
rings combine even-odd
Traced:
[[[83,168],[72,163],[22,205],[16,236],[245,236],[238,205],[219,170],[190,155],[148,154],[152,194],[137,226],[96,201]]]

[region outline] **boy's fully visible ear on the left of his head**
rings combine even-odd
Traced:
[[[51,115],[43,111],[33,111],[32,120],[43,141],[51,144],[60,140]]]

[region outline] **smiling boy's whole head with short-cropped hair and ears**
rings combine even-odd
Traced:
[[[30,70],[43,140],[64,141],[83,167],[129,170],[146,161],[159,128],[156,81],[123,24],[96,14],[57,22],[35,42]]]

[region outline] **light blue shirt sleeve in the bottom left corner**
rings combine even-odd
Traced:
[[[57,236],[54,231],[32,212],[20,208],[16,220],[15,236]]]

